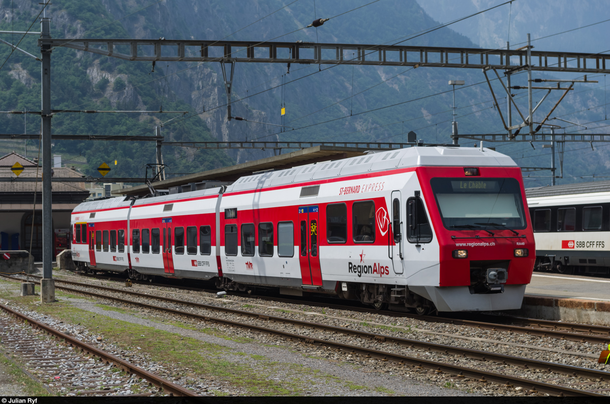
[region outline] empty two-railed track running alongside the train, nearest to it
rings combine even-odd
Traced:
[[[7,276],[7,278],[12,278]],[[13,280],[18,280],[18,278],[12,278]],[[71,281],[63,281],[56,280],[57,282],[62,282],[66,284],[71,284],[73,286],[79,287],[87,287],[91,289],[101,289],[106,290],[108,292],[112,292],[113,294],[123,294],[128,295],[129,299],[121,298],[117,296],[110,296],[106,294],[100,294],[98,292],[91,292],[89,290],[82,289],[74,289],[72,287],[66,286],[58,286],[58,289],[64,289],[71,293],[85,294],[98,298],[109,299],[113,301],[118,301],[125,305],[137,305],[146,309],[152,309],[157,311],[165,311],[170,312],[171,314],[176,314],[179,316],[187,316],[197,320],[203,320],[204,322],[215,322],[218,324],[228,325],[228,326],[238,326],[240,328],[246,328],[249,330],[255,330],[262,333],[272,334],[284,337],[286,339],[292,341],[300,341],[305,342],[306,344],[319,344],[325,347],[332,348],[334,350],[348,353],[349,355],[359,354],[364,356],[364,358],[378,358],[382,362],[392,362],[398,364],[399,366],[412,366],[415,369],[431,369],[433,372],[437,374],[447,373],[451,375],[451,377],[455,378],[470,378],[471,380],[478,381],[479,383],[489,383],[495,382],[501,384],[502,386],[519,386],[522,388],[529,389],[530,392],[542,392],[545,394],[553,394],[553,395],[599,395],[605,396],[603,394],[598,394],[597,392],[586,391],[584,389],[575,389],[570,387],[561,386],[558,384],[544,383],[537,380],[528,380],[525,378],[515,377],[512,375],[508,375],[501,372],[489,372],[486,370],[476,369],[476,367],[486,367],[489,363],[495,363],[500,367],[517,367],[519,369],[536,369],[540,372],[545,372],[547,375],[545,377],[554,378],[557,383],[563,382],[564,384],[569,384],[572,380],[587,379],[587,380],[595,380],[601,381],[603,383],[607,383],[610,381],[610,373],[604,372],[601,370],[595,369],[587,369],[583,367],[569,366],[564,364],[551,363],[547,361],[539,361],[536,359],[529,358],[520,358],[516,356],[504,355],[500,353],[492,353],[487,351],[478,351],[472,350],[469,348],[461,348],[461,347],[453,347],[450,345],[441,345],[441,344],[433,344],[431,342],[423,342],[417,341],[413,339],[406,339],[401,337],[393,337],[382,334],[368,333],[366,331],[354,330],[351,328],[338,327],[332,325],[326,325],[321,323],[314,322],[305,322],[302,320],[288,319],[285,317],[277,317],[277,316],[266,316],[256,312],[248,312],[239,309],[231,309],[225,308],[215,305],[206,305],[204,303],[195,303],[191,301],[178,300],[168,297],[162,297],[158,295],[150,295],[150,294],[142,294],[140,292],[132,292],[127,290],[114,289],[105,286],[95,286],[91,284],[82,284]],[[303,334],[296,334],[291,331],[279,330],[276,328],[271,328],[268,325],[257,325],[253,323],[244,323],[240,321],[230,320],[230,319],[222,319],[219,317],[213,317],[207,314],[199,314],[198,312],[192,311],[182,311],[175,308],[168,308],[163,306],[152,305],[150,303],[145,303],[143,301],[135,300],[138,299],[146,299],[146,300],[161,300],[167,303],[171,303],[173,305],[180,306],[188,306],[190,309],[204,309],[205,311],[212,312],[223,312],[224,314],[231,314],[235,316],[241,317],[249,317],[251,319],[256,319],[256,321],[264,321],[265,323],[274,323],[276,325],[291,325],[295,328],[309,328],[311,330],[323,331],[326,334],[339,334],[340,336],[348,336],[351,339],[360,339],[361,341],[375,341],[376,344],[384,345],[384,350],[367,348],[362,345],[356,344],[346,344],[345,342],[332,341],[332,339],[322,339],[317,337],[306,336]],[[332,338],[332,337],[331,337]],[[366,345],[366,344],[364,344]],[[399,348],[394,348],[399,347]],[[403,355],[401,351],[404,351],[407,348],[408,350],[422,350],[424,352],[437,352],[444,355],[452,355],[452,361],[455,363],[441,363],[439,361],[423,359],[415,356]],[[467,358],[472,361],[472,359],[476,359],[479,365],[475,368],[461,366],[464,364],[464,359]],[[489,366],[487,366],[489,367]],[[514,370],[513,370],[514,371]],[[524,370],[525,371],[525,370]],[[558,377],[561,375],[561,377]],[[586,385],[586,381],[578,380],[581,385]],[[581,383],[583,382],[583,383]],[[610,390],[610,389],[603,389]]]

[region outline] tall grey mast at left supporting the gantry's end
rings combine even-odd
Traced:
[[[42,18],[40,37],[51,38],[51,21]],[[51,188],[51,46],[42,45],[41,54],[41,134],[42,134],[42,269],[40,284],[41,303],[55,301],[55,285],[52,280],[53,224]]]

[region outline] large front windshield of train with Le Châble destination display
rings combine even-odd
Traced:
[[[447,229],[527,227],[517,179],[432,178],[430,184]]]

